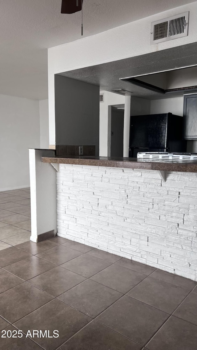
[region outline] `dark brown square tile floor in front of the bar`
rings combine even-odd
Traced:
[[[0,293],[4,350],[196,350],[196,282],[61,237],[2,249]]]

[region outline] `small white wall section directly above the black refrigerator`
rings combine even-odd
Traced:
[[[151,101],[150,114],[168,112],[183,116],[183,96]]]

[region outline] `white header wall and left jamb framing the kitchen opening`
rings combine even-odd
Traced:
[[[189,35],[150,45],[151,22],[190,11]],[[48,49],[49,140],[55,144],[54,74],[196,42],[197,2]],[[80,52],[80,55],[79,55]]]

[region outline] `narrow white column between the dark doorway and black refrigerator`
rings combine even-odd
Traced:
[[[123,157],[129,156],[129,128],[130,128],[131,96],[125,96],[124,102],[124,134],[123,134]]]

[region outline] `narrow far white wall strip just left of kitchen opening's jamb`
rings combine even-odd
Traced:
[[[48,100],[39,101],[40,110],[40,148],[49,147],[49,106]]]

